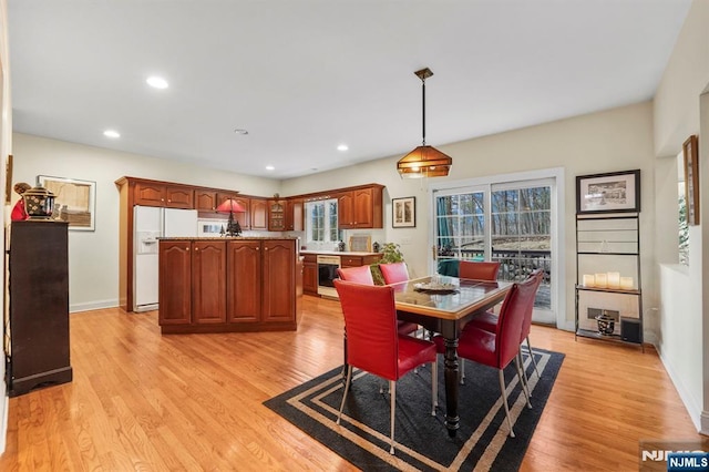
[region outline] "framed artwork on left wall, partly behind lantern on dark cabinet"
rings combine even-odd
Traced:
[[[69,229],[73,230],[95,229],[95,182],[38,175],[37,183],[54,194],[52,219],[69,222]]]

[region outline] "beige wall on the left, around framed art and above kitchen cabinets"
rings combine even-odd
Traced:
[[[124,176],[236,189],[270,196],[278,181],[243,176],[100,147],[14,134],[14,181],[34,184],[38,175],[96,182],[94,232],[69,232],[71,311],[117,306],[119,191]],[[17,197],[17,195],[16,195]]]

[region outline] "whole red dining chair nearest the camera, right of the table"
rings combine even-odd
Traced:
[[[497,324],[497,330],[495,332],[471,327],[463,330],[458,341],[458,356],[497,369],[500,391],[505,407],[507,423],[510,424],[511,438],[514,438],[514,430],[512,429],[510,406],[507,404],[507,394],[505,393],[504,368],[513,360],[515,361],[517,377],[526,398],[527,408],[532,408],[517,353],[520,351],[520,334],[522,332],[525,312],[530,305],[534,305],[534,296],[536,295],[535,284],[536,280],[530,278],[512,286],[500,310],[500,322]],[[440,351],[444,343],[443,338],[438,336],[434,338],[434,341]]]

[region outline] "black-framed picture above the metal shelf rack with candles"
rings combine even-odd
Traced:
[[[576,213],[640,211],[640,170],[576,176]]]

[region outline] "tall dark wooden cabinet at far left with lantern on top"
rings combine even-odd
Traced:
[[[9,396],[72,380],[68,223],[10,226]]]

